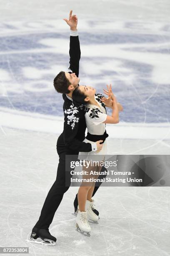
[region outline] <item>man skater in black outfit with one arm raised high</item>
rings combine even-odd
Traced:
[[[76,161],[79,151],[90,152],[100,151],[102,149],[101,140],[94,142],[93,144],[82,142],[85,139],[86,130],[84,106],[80,106],[72,101],[72,92],[77,86],[79,86],[78,83],[80,81],[78,74],[81,53],[77,33],[77,16],[72,15],[71,10],[69,20],[64,20],[70,26],[70,67],[69,72],[61,71],[54,79],[55,90],[62,93],[62,97],[64,99],[64,129],[57,140],[57,153],[59,155],[57,177],[48,192],[41,210],[40,218],[32,229],[30,240],[28,240],[35,243],[49,243],[50,245],[55,244],[56,238],[51,236],[49,226],[52,223],[60,202],[62,201],[64,193],[70,187],[70,184],[68,186],[65,185],[65,156],[75,155]],[[101,171],[107,172],[107,169],[102,167]],[[100,179],[104,177],[106,177],[106,175],[99,176]],[[97,183],[92,196],[95,195],[100,184],[101,183]],[[93,205],[94,200],[91,201],[90,207],[92,207],[92,210],[99,215],[99,212],[95,210]],[[74,201],[75,212],[77,211],[77,206],[78,201],[76,195]],[[37,238],[41,238],[42,241],[36,241]]]

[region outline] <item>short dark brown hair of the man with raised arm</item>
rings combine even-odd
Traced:
[[[68,90],[68,87],[70,84],[64,71],[60,71],[54,79],[54,88],[60,93],[69,93],[70,90]]]

